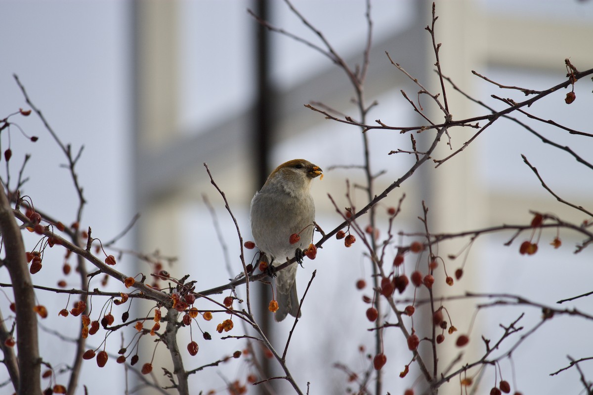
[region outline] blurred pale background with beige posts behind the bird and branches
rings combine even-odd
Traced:
[[[361,62],[366,40],[364,1],[295,0],[294,5],[323,32],[349,65]],[[341,222],[327,195],[331,194],[339,207],[346,207],[349,203],[345,197],[345,179],[352,184],[364,182],[364,174],[358,169],[328,170],[331,166],[363,163],[360,130],[325,120],[304,107],[311,101],[323,102],[358,118],[350,100],[354,91],[343,70],[302,43],[278,34],[262,34],[247,9],[264,16],[273,25],[320,44],[318,37],[281,1],[0,2],[0,14],[4,16],[0,24],[0,117],[20,107],[27,108],[12,76],[16,73],[60,138],[71,143],[73,150],[84,146],[78,164],[88,200],[82,228],[91,226],[95,237],[109,240],[136,213],[141,213],[135,229],[121,240],[120,246],[177,256],[176,264],[165,269],[176,277],[190,274],[197,281],[196,290],[224,284],[241,271],[234,224],[209,182],[204,162],[225,191],[246,240],[250,239],[251,197],[262,185],[263,177],[285,160],[305,158],[326,170],[323,181],[316,180],[313,185],[317,222],[324,230],[331,230]],[[590,1],[459,0],[438,2],[436,12],[439,15],[436,37],[442,43],[444,74],[467,94],[499,110],[505,104],[490,95],[515,101],[525,96],[519,91],[503,91],[472,75],[471,70],[500,84],[544,90],[565,81],[567,57],[579,70],[593,67],[590,40],[593,3]],[[385,52],[432,92],[439,91],[433,73],[432,42],[424,30],[431,23],[431,2],[372,1],[371,18],[374,31],[365,97],[367,104],[377,100],[378,105],[369,114],[368,122],[380,119],[394,126],[424,124],[400,94],[400,89],[404,89],[415,99],[417,87],[390,64]],[[575,85],[573,104],[565,104],[566,92],[562,91],[538,101],[526,111],[591,133],[591,90],[591,82],[586,78]],[[450,88],[448,99],[454,119],[487,113]],[[442,120],[428,97],[421,97],[420,103],[433,120]],[[527,117],[521,120],[554,142],[570,146],[591,162],[593,143],[588,137],[569,135]],[[14,127],[9,142],[6,135],[0,137],[3,149],[4,144],[11,144],[10,165],[14,166],[11,171],[18,169],[25,153],[31,153],[25,169],[30,180],[23,192],[33,198],[37,207],[63,223],[71,223],[77,201],[68,172],[60,167],[65,159],[39,118],[31,115],[14,121],[26,133],[40,139],[30,143]],[[474,133],[465,129],[451,131],[453,147],[460,147]],[[409,150],[410,140],[407,134],[394,131],[368,133],[372,168],[375,172],[385,170],[385,175],[377,180],[376,190],[380,192],[411,165],[412,158],[406,154],[388,155],[398,148]],[[422,143],[422,136],[419,138]],[[436,159],[449,153],[443,147]],[[384,210],[397,205],[404,193],[403,212],[396,220],[394,232],[421,229],[417,216],[422,214],[422,200],[430,208],[432,232],[528,223],[529,210],[549,212],[581,223],[585,219],[583,213],[569,210],[543,190],[520,154],[527,156],[547,185],[561,197],[591,209],[590,169],[511,121],[499,120],[462,155],[436,169],[427,163],[426,169],[391,192],[379,208],[381,235],[387,230]],[[215,208],[225,246],[216,236],[204,195]],[[358,207],[367,203],[362,193],[356,192],[353,198]],[[361,224],[365,225],[364,219]],[[572,253],[573,246],[580,241],[578,237],[562,233],[563,246],[555,250],[548,245],[555,233],[544,233],[540,251],[534,256],[521,256],[518,254],[521,237],[512,246],[503,246],[511,236],[512,233],[500,233],[479,239],[468,255],[466,275],[455,287],[439,292],[508,292],[551,305],[591,291],[591,251]],[[396,244],[410,241],[407,237],[396,237]],[[36,240],[31,238],[30,242],[33,246]],[[443,243],[439,255],[457,253],[466,242]],[[361,244],[345,249],[342,243],[326,243],[315,261],[305,260],[304,269],[299,269],[299,295],[314,269],[317,277],[291,340],[287,364],[301,388],[306,388],[310,381],[311,393],[345,393],[352,384],[333,364],[340,362],[360,372],[369,364],[365,354],[374,354],[374,336],[366,330],[368,305],[362,301],[363,294],[371,295],[370,266]],[[388,254],[394,255],[395,250],[390,248]],[[34,281],[54,287],[64,277],[60,272],[63,253],[50,251],[48,256],[55,259],[55,270],[49,263],[52,261],[46,258],[48,264],[44,261],[43,277],[37,275]],[[246,257],[251,258],[253,251]],[[225,262],[231,268],[230,273]],[[411,272],[413,263],[406,264]],[[131,258],[123,259],[118,265],[120,271],[132,275],[149,271],[148,266]],[[460,260],[447,262],[447,269],[453,272],[459,265]],[[362,291],[355,288],[359,278],[367,282]],[[68,287],[79,287],[72,275],[66,280],[72,281]],[[0,282],[8,282],[5,271],[0,271]],[[91,282],[91,289],[99,286],[98,282]],[[116,284],[110,286],[120,290]],[[9,288],[4,291],[8,297],[0,303],[3,313],[11,299]],[[240,289],[238,293],[244,297],[243,291]],[[412,294],[408,292],[406,296]],[[50,317],[42,325],[58,328],[66,337],[77,335],[78,329],[72,332],[76,328],[72,317],[59,320],[56,317],[67,305],[66,297],[43,291],[38,291],[37,297],[50,311]],[[262,300],[267,306],[269,297]],[[588,302],[584,298],[567,307],[591,311],[587,310]],[[95,303],[100,306],[103,301]],[[475,301],[447,305],[461,332],[468,330],[474,305]],[[484,333],[496,339],[502,333],[499,323],[508,325],[522,311],[528,312],[521,321],[525,327],[540,319],[540,311],[527,307],[480,310],[471,338],[477,340]],[[392,322],[394,319],[387,317]],[[187,369],[245,348],[240,340],[218,340],[222,335],[215,332],[215,321],[203,325],[200,321],[202,329],[212,333],[213,341],[203,341],[194,330],[200,351],[196,357],[187,355]],[[270,336],[282,349],[291,320],[269,325]],[[576,318],[557,317],[544,325],[513,353],[517,389],[524,393],[581,393],[583,386],[576,370],[554,377],[549,373],[568,365],[566,355],[576,359],[593,355],[593,347],[585,341],[590,330],[591,323]],[[71,363],[68,342],[64,345],[56,341],[55,333],[47,330],[42,331],[42,336],[42,355],[47,356],[48,362],[60,368]],[[411,356],[400,333],[393,330],[385,336],[390,341],[385,342],[388,362],[384,367],[384,390],[403,393],[404,388],[419,378],[419,371],[412,365],[404,380],[398,377]],[[90,346],[98,346],[101,340],[92,336],[88,339]],[[149,340],[143,341],[139,351],[141,361],[149,360],[153,349]],[[119,335],[110,336],[108,346],[117,351],[120,342]],[[443,345],[441,366],[447,366],[457,355],[457,351],[447,348],[451,343]],[[359,346],[366,351],[361,354]],[[480,355],[483,346],[477,341],[474,346],[468,352]],[[164,348],[159,352],[162,351]],[[159,358],[168,357],[162,354]],[[500,365],[506,380],[511,381],[508,359]],[[593,367],[585,362],[582,369],[592,377]],[[228,382],[244,383],[250,372],[251,368],[241,359],[232,359],[198,372],[192,383],[196,393],[199,390],[225,393]],[[159,375],[160,371],[155,370],[155,374]],[[486,392],[494,383],[492,368],[484,374],[487,378],[477,393]],[[0,371],[0,383],[7,379],[8,374]],[[126,374],[114,361],[104,370],[91,361],[83,365],[80,384],[96,386],[106,393],[123,393],[124,388],[136,388],[135,380],[134,375]],[[164,379],[161,383],[168,384]],[[276,384],[278,393],[289,393],[287,384]],[[514,383],[512,386],[515,388]],[[256,393],[248,388],[249,393]],[[141,391],[149,393],[145,389]],[[458,391],[458,384],[452,383],[441,393]],[[11,386],[0,387],[0,393],[12,393]]]

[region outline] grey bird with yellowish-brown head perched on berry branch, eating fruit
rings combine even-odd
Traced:
[[[311,180],[321,175],[321,169],[304,159],[293,159],[278,166],[266,179],[251,200],[251,234],[257,248],[266,254],[270,264],[282,265],[286,259],[302,258],[302,250],[313,239],[315,203],[311,197]],[[300,236],[291,244],[291,235]],[[294,241],[294,240],[293,240]],[[286,314],[296,317],[297,265],[292,264],[278,272],[276,293],[278,298],[277,322]]]

